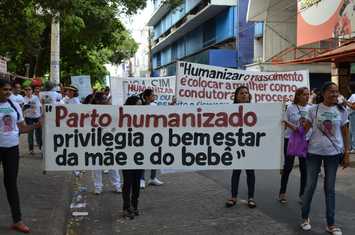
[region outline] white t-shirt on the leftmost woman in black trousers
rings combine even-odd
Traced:
[[[0,103],[0,147],[10,148],[19,145],[19,129],[17,123],[23,121],[23,115],[20,105],[12,102],[16,110],[11,104],[6,102]],[[17,118],[17,113],[19,118]]]

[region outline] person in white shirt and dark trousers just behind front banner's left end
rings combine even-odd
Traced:
[[[39,98],[32,94],[32,87],[25,87],[25,97],[24,97],[24,105],[23,105],[23,114],[25,117],[25,122],[27,125],[33,125],[39,122],[41,118],[41,102]],[[30,150],[30,154],[34,154],[33,152],[33,132],[36,136],[36,142],[38,148],[42,148],[42,128],[36,128],[33,131],[30,131],[27,136],[28,147]]]

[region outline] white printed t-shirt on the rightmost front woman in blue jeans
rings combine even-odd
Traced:
[[[321,103],[309,109],[307,119],[313,126],[308,145],[309,153],[329,156],[344,151],[341,127],[349,122],[346,110],[340,111],[337,106],[328,107]]]

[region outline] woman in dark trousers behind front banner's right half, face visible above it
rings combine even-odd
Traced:
[[[248,87],[240,86],[234,92],[234,103],[250,103],[251,95]],[[245,170],[247,174],[247,184],[248,184],[248,207],[255,208],[256,203],[254,201],[254,191],[255,191],[255,171],[254,170]],[[238,196],[238,186],[239,178],[242,170],[233,170],[232,174],[232,197],[227,200],[226,207],[235,206],[237,203]]]

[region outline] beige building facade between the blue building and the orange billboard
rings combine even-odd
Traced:
[[[318,41],[297,46],[297,1],[250,0],[247,20],[254,25],[254,60],[246,69],[258,71],[293,71],[307,69],[311,88],[331,79],[329,62],[295,63],[316,56],[332,45]]]

